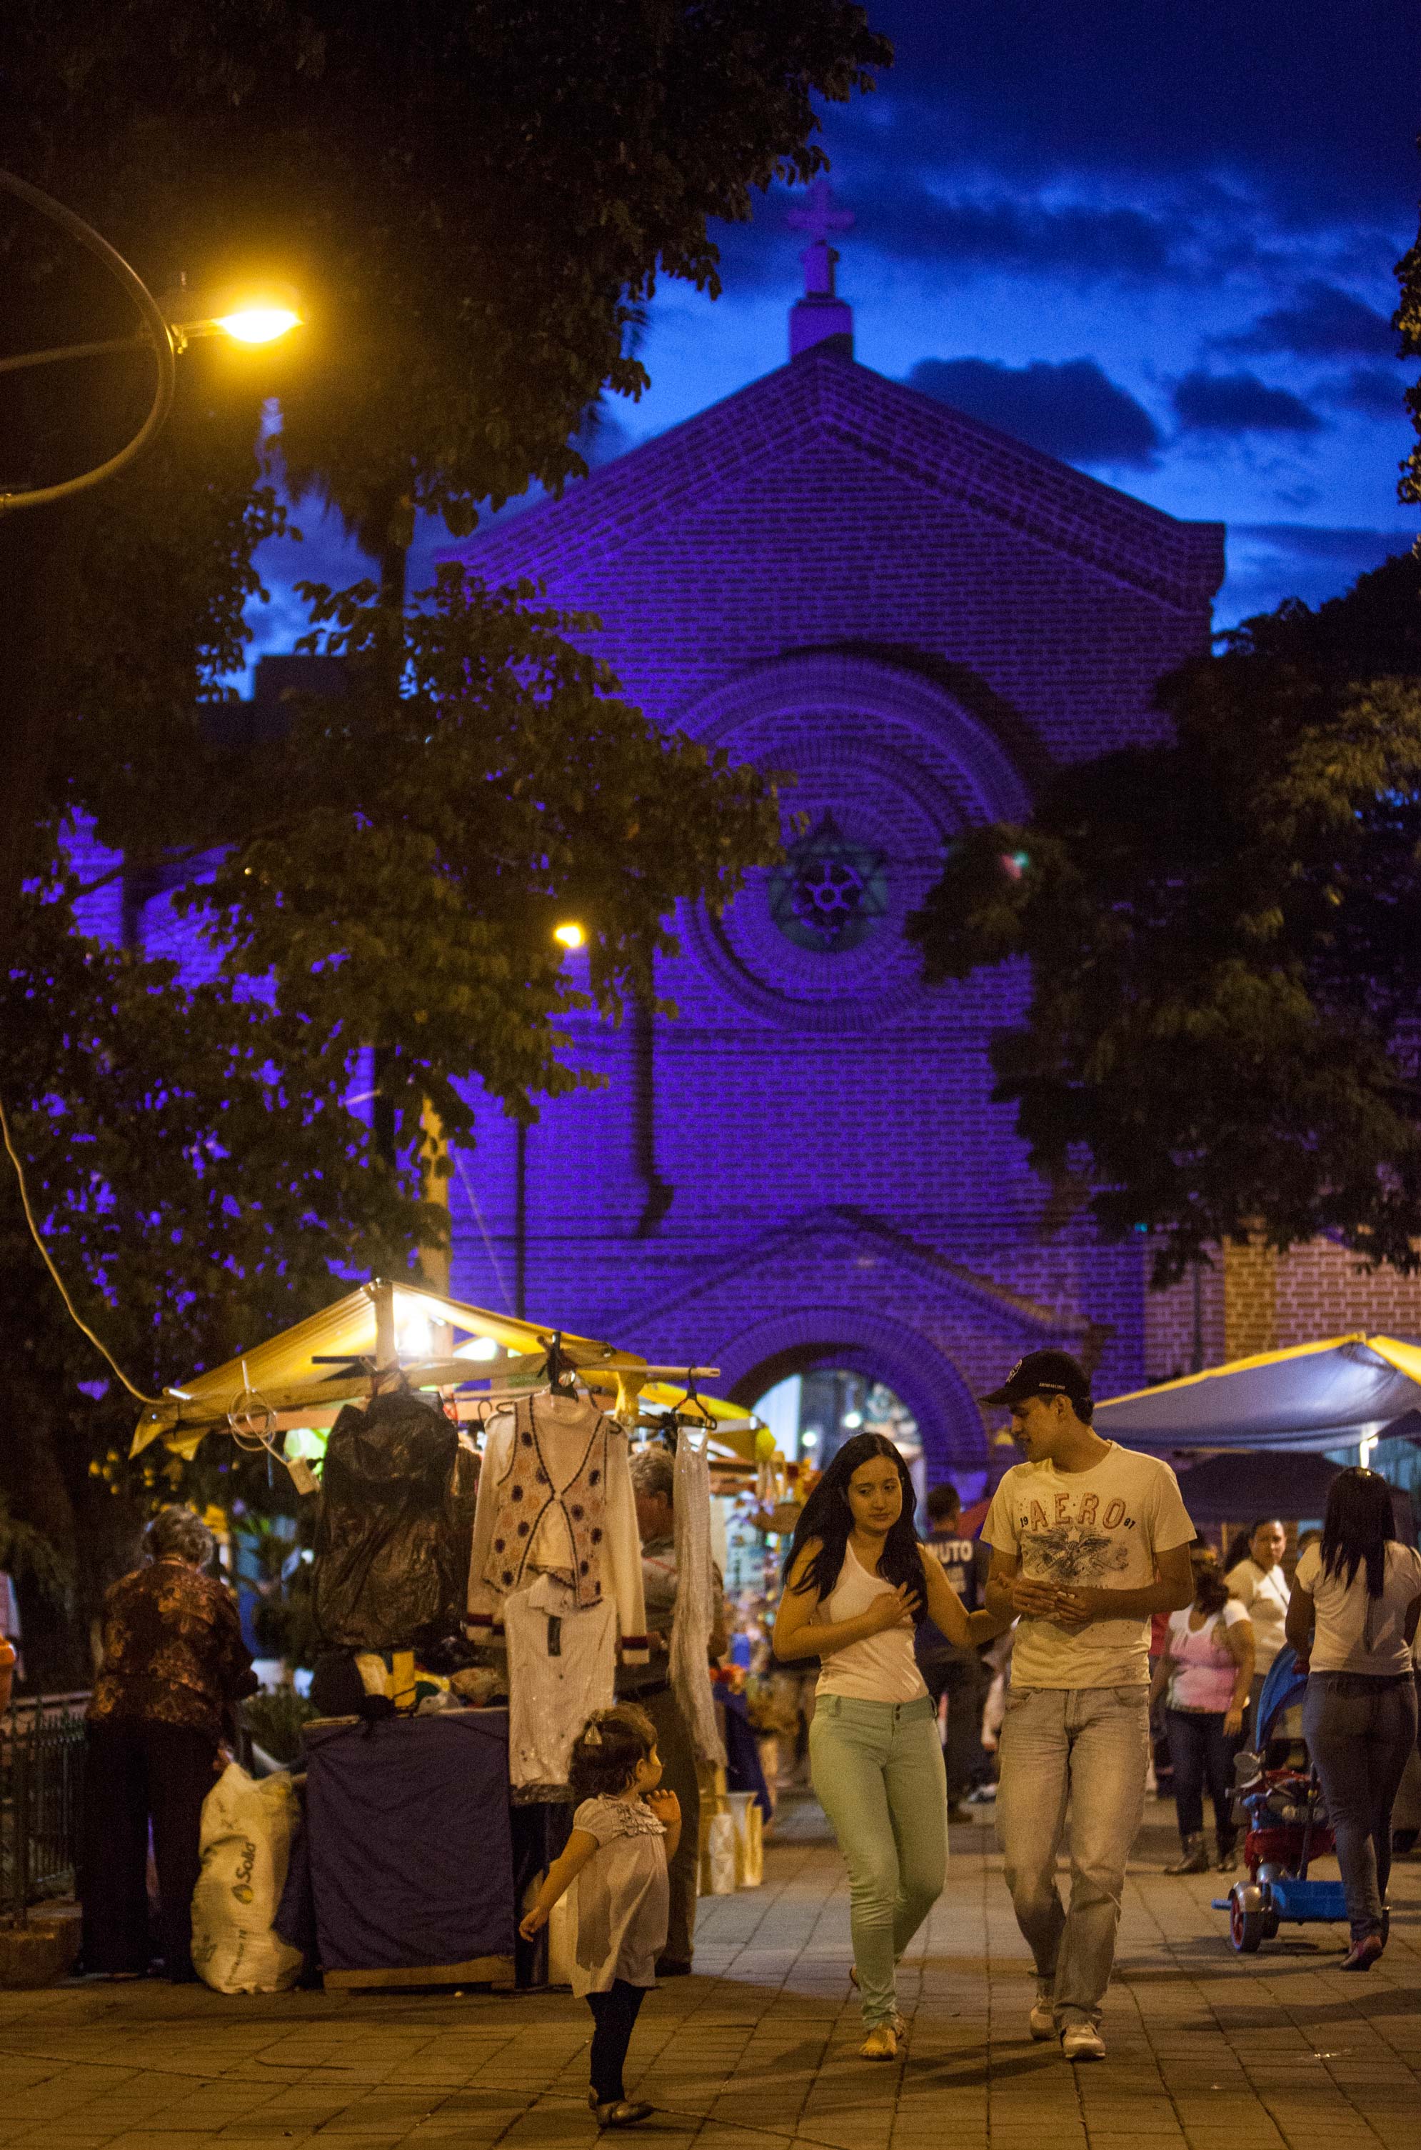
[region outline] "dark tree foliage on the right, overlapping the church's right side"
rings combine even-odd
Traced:
[[[1157,1281],[1247,1234],[1415,1271],[1421,563],[1249,619],[1159,703],[1172,740],[954,847],[927,972],[1030,963],[995,1094],[1107,1236],[1157,1234]]]

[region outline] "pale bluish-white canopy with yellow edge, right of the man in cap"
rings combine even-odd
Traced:
[[[1133,1449],[1344,1449],[1421,1406],[1421,1346],[1326,1337],[1111,1395],[1094,1423]]]

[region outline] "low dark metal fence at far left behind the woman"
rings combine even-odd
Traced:
[[[75,1888],[88,1694],[39,1694],[0,1720],[0,1918]]]

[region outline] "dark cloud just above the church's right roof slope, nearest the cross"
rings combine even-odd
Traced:
[[[920,359],[907,383],[1064,462],[1148,464],[1161,445],[1144,404],[1116,387],[1094,359],[1062,366]]]

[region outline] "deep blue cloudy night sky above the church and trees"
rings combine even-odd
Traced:
[[[877,0],[896,64],[823,116],[856,355],[1178,516],[1230,525],[1217,624],[1318,602],[1421,527],[1393,262],[1417,232],[1415,0]],[[662,286],[651,391],[598,460],[787,357],[804,234],[776,189],[720,232],[724,295]],[[363,572],[340,531],[262,555],[252,654],[301,630],[297,574]],[[417,553],[447,542],[421,533]],[[419,587],[421,561],[413,561]]]

